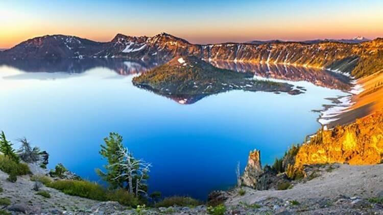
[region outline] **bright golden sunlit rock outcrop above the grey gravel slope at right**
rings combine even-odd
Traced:
[[[383,110],[356,122],[319,130],[303,144],[295,159],[295,168],[303,165],[348,163],[380,164],[383,158]]]

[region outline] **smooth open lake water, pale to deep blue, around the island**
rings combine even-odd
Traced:
[[[302,80],[289,82],[307,90],[300,95],[231,91],[182,105],[134,87],[131,73],[142,68],[131,64],[0,66],[0,129],[15,146],[26,137],[49,152],[50,168],[63,163],[94,181],[94,169],[105,164],[100,144],[118,132],[136,157],[152,163],[151,192],[206,199],[235,184],[236,164],[243,170],[250,150],[261,151],[262,164],[273,163],[320,127],[312,110],[345,94]]]

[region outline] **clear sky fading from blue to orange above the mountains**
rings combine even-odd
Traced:
[[[383,37],[381,0],[1,0],[0,48],[65,34],[166,32],[192,43]]]

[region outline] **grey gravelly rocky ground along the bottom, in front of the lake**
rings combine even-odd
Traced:
[[[316,177],[296,181],[287,190],[256,191],[246,187],[241,189],[243,193],[233,189],[213,192],[209,198],[224,202],[226,211],[222,214],[383,214],[383,165],[318,165],[310,171]],[[7,181],[7,177],[0,172],[0,198],[3,209],[10,214],[220,214],[206,205],[127,208],[117,202],[69,196],[43,186],[40,190],[51,194],[46,198],[36,195],[36,182],[30,176],[19,176],[15,183]],[[9,199],[9,204],[3,199]]]

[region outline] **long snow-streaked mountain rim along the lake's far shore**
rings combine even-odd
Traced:
[[[126,58],[169,61],[176,56],[209,60],[288,64],[351,72],[362,77],[382,69],[383,39],[363,43],[276,42],[196,45],[162,33],[153,37],[118,34],[106,43],[73,36],[43,36],[2,51],[0,59]]]

